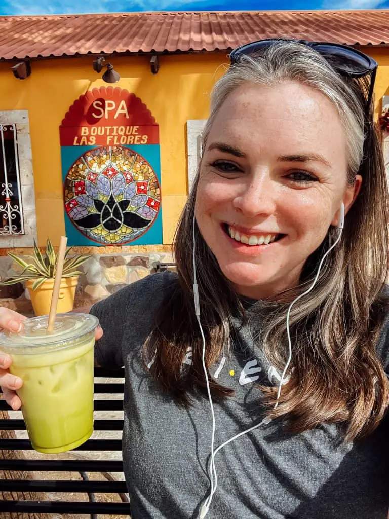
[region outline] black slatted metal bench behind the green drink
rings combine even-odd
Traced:
[[[124,377],[124,370],[107,371],[102,368],[95,368],[95,377]],[[94,393],[119,393],[120,400],[100,399],[94,400],[95,411],[122,411],[123,409],[123,384],[122,383],[96,383]],[[10,411],[10,407],[4,400],[0,400],[0,411]],[[9,413],[11,416],[12,413]],[[95,419],[95,431],[121,431],[123,429],[122,419]],[[0,420],[1,431],[25,430],[24,420],[9,419]],[[31,450],[29,440],[10,438],[0,438],[0,449],[8,451]],[[84,445],[80,445],[73,451],[121,451],[121,440],[118,439],[92,439]],[[1,456],[0,456],[1,457]],[[0,479],[0,491],[15,493],[85,493],[88,495],[87,501],[39,501],[39,500],[0,500],[0,511],[22,514],[22,513],[43,513],[43,514],[74,514],[75,518],[79,514],[130,515],[130,504],[127,495],[126,484],[123,481],[109,477],[106,481],[93,481],[87,476],[87,472],[99,472],[109,476],[109,473],[122,473],[122,462],[120,460],[98,460],[98,459],[53,459],[55,455],[42,455],[41,458],[47,459],[0,459],[0,472],[9,471],[39,471],[39,472],[78,472],[81,476],[80,481],[68,480],[18,480]],[[96,502],[95,493],[118,494],[121,502]],[[2,513],[0,516],[2,517]],[[19,515],[17,515],[19,517]]]

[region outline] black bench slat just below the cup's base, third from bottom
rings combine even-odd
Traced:
[[[54,472],[123,472],[119,460],[0,459],[0,471],[39,470]],[[0,486],[1,488],[1,486]]]

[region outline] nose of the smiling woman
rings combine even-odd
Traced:
[[[275,211],[275,192],[271,179],[266,175],[255,175],[247,179],[233,200],[233,206],[249,217],[270,215]]]

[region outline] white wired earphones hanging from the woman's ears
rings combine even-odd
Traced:
[[[196,218],[193,215],[193,296],[195,298],[195,313],[196,313],[197,321],[199,323],[201,336],[202,336],[202,339],[203,339],[203,356],[202,356],[203,370],[204,370],[204,374],[205,374],[206,388],[207,388],[207,392],[208,392],[208,398],[209,398],[209,401],[210,401],[211,413],[212,413],[211,471],[209,469],[207,469],[208,476],[209,476],[210,481],[211,481],[211,491],[210,491],[209,495],[207,496],[207,498],[205,499],[204,503],[202,504],[202,507],[200,509],[200,515],[199,515],[200,519],[204,519],[204,517],[206,516],[206,514],[208,513],[208,511],[210,509],[212,498],[213,498],[213,495],[215,494],[216,487],[217,487],[217,474],[216,474],[216,467],[215,467],[215,456],[216,456],[216,454],[219,452],[220,449],[225,447],[228,443],[232,442],[233,440],[236,440],[237,438],[240,438],[240,436],[243,436],[244,434],[247,434],[247,433],[253,431],[254,429],[257,429],[258,427],[260,427],[262,425],[270,424],[271,418],[266,416],[265,418],[263,418],[263,420],[261,422],[259,422],[259,424],[255,425],[253,427],[250,427],[249,429],[246,429],[245,431],[242,431],[239,434],[236,434],[235,436],[230,438],[230,440],[227,440],[226,442],[224,442],[221,445],[219,445],[217,447],[217,449],[215,450],[215,446],[214,446],[214,443],[215,443],[215,412],[214,412],[213,403],[212,403],[212,397],[211,397],[210,381],[209,381],[208,373],[206,371],[206,366],[205,366],[205,336],[204,336],[203,327],[201,326],[201,321],[200,321],[199,287],[198,287],[198,284],[197,284],[197,277],[196,277],[195,225],[196,225]],[[290,305],[288,307],[288,311],[286,313],[286,332],[287,332],[288,345],[289,345],[289,357],[288,357],[288,360],[287,360],[287,362],[285,364],[284,371],[282,372],[282,376],[281,376],[281,380],[280,380],[280,386],[279,386],[279,389],[278,389],[278,392],[277,392],[277,400],[275,402],[274,409],[277,407],[277,405],[279,403],[280,395],[281,395],[281,389],[282,389],[282,385],[283,385],[284,379],[285,379],[285,374],[286,374],[286,372],[288,370],[288,367],[289,367],[289,364],[290,364],[291,358],[292,358],[291,340],[290,340],[290,332],[289,332],[289,315],[290,315],[290,310],[291,310],[291,307],[296,303],[296,301],[298,301],[301,297],[303,297],[303,296],[305,296],[305,295],[307,295],[307,294],[309,294],[311,292],[311,290],[313,289],[313,287],[316,284],[316,281],[317,281],[318,276],[320,274],[320,270],[322,268],[322,265],[323,265],[323,262],[324,262],[325,258],[328,256],[328,254],[331,252],[331,250],[334,249],[334,247],[336,247],[337,243],[340,240],[340,237],[342,235],[342,230],[344,228],[344,204],[343,204],[343,202],[342,202],[342,205],[341,205],[341,208],[340,208],[339,224],[337,225],[337,228],[339,229],[338,238],[335,240],[335,243],[331,245],[331,247],[328,249],[328,251],[322,257],[322,260],[319,263],[319,266],[318,266],[318,269],[317,269],[317,273],[316,273],[315,279],[313,280],[313,283],[311,284],[310,288],[308,290],[306,290],[305,292],[303,292],[302,294],[300,294],[299,296],[297,296],[296,299],[294,299],[290,303]]]

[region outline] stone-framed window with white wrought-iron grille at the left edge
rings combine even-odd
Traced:
[[[0,247],[36,239],[34,179],[26,110],[0,111]]]

